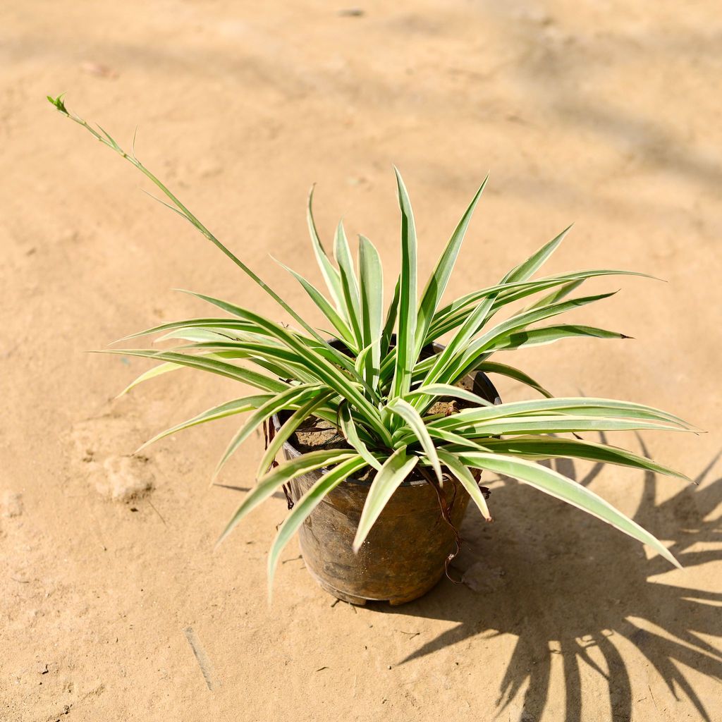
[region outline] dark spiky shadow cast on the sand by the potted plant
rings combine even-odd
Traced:
[[[722,560],[722,549],[709,548],[721,541],[721,521],[713,515],[722,503],[722,477],[709,478],[721,455],[695,478],[699,486],[683,486],[662,503],[656,503],[657,485],[671,480],[644,474],[643,494],[633,518],[652,531],[674,530],[677,541],[670,549],[685,568]],[[559,460],[554,466],[584,485],[604,468],[595,465],[582,476],[572,461]],[[513,703],[526,684],[522,719],[540,718],[549,697],[552,659],[560,655],[566,722],[582,719],[582,672],[588,673],[584,666],[606,679],[612,718],[628,720],[632,681],[622,652],[632,643],[674,698],[679,700],[681,693],[710,721],[703,700],[679,665],[722,679],[722,652],[704,638],[720,634],[722,593],[675,586],[674,575],[669,582],[651,580],[671,570],[668,562],[658,556],[648,560],[635,541],[601,521],[513,479],[502,481],[495,485],[492,501],[497,511],[503,509],[503,521],[485,526],[476,514],[469,514],[462,527],[466,544],[455,565],[464,584],[443,581],[411,604],[383,606],[386,614],[458,622],[400,664],[477,635],[487,639],[514,635],[517,640],[500,684],[497,713]],[[377,604],[369,608],[382,609]],[[664,635],[651,631],[652,627]]]

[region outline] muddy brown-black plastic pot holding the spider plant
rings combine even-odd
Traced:
[[[439,348],[435,344],[434,350]],[[500,403],[484,373],[470,375],[464,386],[492,403]],[[278,429],[282,419],[274,416],[273,422]],[[301,454],[288,441],[283,451],[287,459]],[[326,470],[320,469],[292,479],[292,500],[298,500],[324,473]],[[445,479],[448,516],[458,529],[469,495],[455,479]],[[404,604],[438,583],[445,560],[456,547],[454,531],[442,516],[432,484],[422,479],[407,480],[393,493],[355,554],[352,543],[370,485],[370,480],[349,478],[331,490],[299,530],[301,554],[313,578],[337,599],[351,604],[371,600]]]

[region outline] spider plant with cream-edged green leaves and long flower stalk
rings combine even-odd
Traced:
[[[156,376],[191,367],[240,381],[256,393],[214,406],[178,424],[147,443],[199,424],[248,414],[230,441],[215,473],[258,427],[274,414],[288,412],[275,438],[266,448],[256,471],[257,483],[233,514],[221,535],[291,479],[323,469],[318,481],[297,501],[279,528],[269,554],[269,587],[284,544],[305,518],[334,487],[345,479],[373,469],[373,481],[362,510],[354,541],[364,543],[384,506],[399,485],[414,474],[443,484],[455,477],[490,520],[490,511],[471,469],[505,474],[570,503],[592,516],[648,544],[672,564],[677,560],[652,534],[586,487],[537,462],[575,458],[619,464],[687,479],[677,471],[611,445],[593,443],[580,432],[617,430],[691,430],[674,414],[629,401],[586,397],[554,398],[534,379],[506,363],[492,361],[497,352],[550,344],[561,339],[592,336],[623,339],[624,334],[593,326],[551,321],[613,295],[577,295],[573,292],[593,277],[632,274],[618,269],[593,269],[532,279],[544,261],[562,243],[567,231],[549,241],[499,282],[442,303],[464,234],[477,206],[484,181],[451,234],[438,263],[419,293],[417,237],[414,215],[401,174],[396,186],[401,209],[401,271],[390,303],[384,305],[383,269],[378,251],[359,237],[357,266],[344,226],[339,223],[333,253],[324,248],[313,220],[313,191],[308,198],[308,230],[328,295],[308,279],[286,269],[333,329],[320,331],[305,321],[225,247],[166,186],[140,162],[134,151],[125,152],[100,126],[90,126],[71,113],[62,97],[48,100],[65,116],[90,131],[95,139],[131,162],[160,188],[175,212],[196,227],[248,277],[271,295],[290,315],[297,328],[287,327],[240,305],[209,295],[191,295],[221,310],[224,316],[206,316],[161,326],[127,336],[161,334],[160,339],[182,342],[173,349],[112,349],[110,353],[144,357],[160,362],[126,389]],[[286,266],[284,266],[286,268]],[[500,320],[511,304],[524,301]],[[550,321],[547,325],[539,325]],[[331,344],[334,335],[342,342]],[[448,337],[441,350],[422,355],[440,337]],[[123,339],[123,340],[126,340]],[[247,365],[239,365],[245,362]],[[250,367],[249,367],[250,366]],[[482,370],[520,381],[543,398],[491,404],[458,383]],[[432,413],[439,401],[456,399],[465,407],[451,414]],[[460,405],[461,405],[460,404]],[[346,448],[317,448],[274,465],[285,441],[307,419],[323,419],[346,440]],[[567,438],[562,435],[573,435]]]

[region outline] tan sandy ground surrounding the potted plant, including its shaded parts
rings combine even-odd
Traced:
[[[630,9],[630,5],[632,8]],[[0,718],[9,722],[720,719],[722,21],[717,3],[32,0],[0,9]],[[549,269],[623,266],[578,318],[635,336],[516,362],[560,394],[710,430],[615,439],[699,479],[562,465],[668,541],[635,542],[509,480],[444,581],[401,609],[332,604],[292,544],[266,604],[272,500],[213,552],[240,492],[209,488],[234,425],[127,455],[238,388],[84,354],[202,306],[282,318],[142,178],[45,102],[129,144],[310,313],[305,194],[396,267],[391,163],[425,274],[489,171],[454,277],[494,282],[568,222]],[[391,276],[391,274],[389,274]],[[500,383],[505,399],[525,393]],[[224,483],[253,482],[259,443]],[[152,487],[113,500],[127,484]],[[193,653],[196,648],[197,656]],[[205,676],[201,669],[205,669]]]

